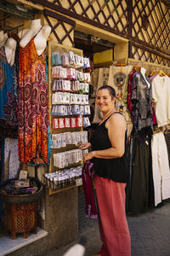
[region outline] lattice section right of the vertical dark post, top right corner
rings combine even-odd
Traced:
[[[170,9],[157,0],[133,0],[132,38],[170,51]]]

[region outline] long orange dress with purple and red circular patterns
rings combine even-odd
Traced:
[[[37,55],[34,38],[25,48],[20,47],[18,123],[20,162],[48,164],[45,55]]]

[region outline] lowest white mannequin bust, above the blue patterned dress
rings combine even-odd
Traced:
[[[5,54],[7,57],[8,64],[10,64],[10,66],[13,66],[14,64],[15,49],[16,41],[14,40],[14,38],[8,38],[5,44]]]

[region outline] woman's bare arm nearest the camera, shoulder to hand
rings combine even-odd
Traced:
[[[105,150],[95,150],[84,154],[83,160],[87,161],[92,158],[113,159],[122,157],[125,150],[125,131],[127,129],[126,121],[120,113],[115,113],[106,122],[105,127],[108,129],[108,136],[111,141],[111,148]]]

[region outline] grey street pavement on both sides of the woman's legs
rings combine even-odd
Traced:
[[[44,255],[62,256],[82,236],[87,238],[85,256],[92,256],[93,253],[99,252],[101,241],[98,220],[85,218],[84,214],[83,217],[79,214],[79,218],[81,220],[79,219],[80,228],[77,239],[65,247],[56,248]],[[136,216],[127,214],[127,223],[131,235],[132,256],[170,256],[169,201]]]

